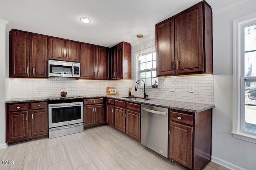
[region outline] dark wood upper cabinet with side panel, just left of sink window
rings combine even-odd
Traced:
[[[132,46],[122,42],[110,50],[110,79],[131,79]]]

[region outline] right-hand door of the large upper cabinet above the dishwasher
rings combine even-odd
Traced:
[[[175,16],[178,73],[203,72],[202,3]]]

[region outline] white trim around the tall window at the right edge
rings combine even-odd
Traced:
[[[241,26],[256,21],[256,13],[243,16],[233,20],[233,126],[232,134],[234,138],[256,143],[256,135],[244,133],[240,130],[240,110],[242,102],[241,94]]]

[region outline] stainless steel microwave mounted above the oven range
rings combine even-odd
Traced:
[[[80,78],[80,63],[48,60],[48,76]]]

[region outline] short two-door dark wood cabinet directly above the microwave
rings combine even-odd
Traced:
[[[80,43],[64,39],[49,38],[49,59],[80,62]]]

